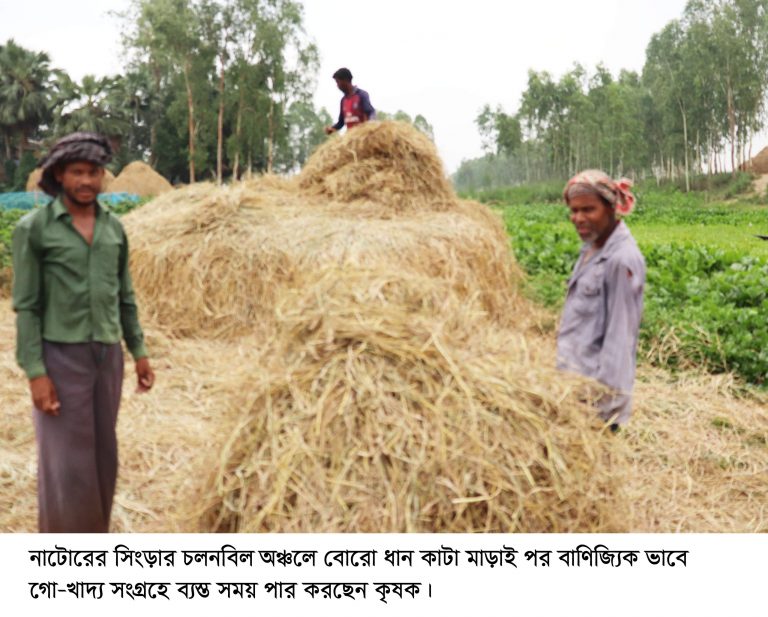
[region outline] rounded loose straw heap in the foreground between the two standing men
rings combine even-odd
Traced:
[[[616,444],[551,353],[428,276],[296,283],[261,366],[239,369],[246,413],[205,528],[625,529]]]

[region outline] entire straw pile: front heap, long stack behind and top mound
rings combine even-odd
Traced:
[[[202,529],[622,529],[621,466],[526,333],[501,220],[416,129],[371,123],[294,181],[193,185],[124,221],[145,314],[233,341]]]

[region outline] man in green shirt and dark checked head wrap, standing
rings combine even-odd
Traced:
[[[29,378],[41,532],[106,532],[117,480],[115,425],[124,338],[139,391],[154,373],[144,348],[120,221],[96,197],[109,142],[73,133],[42,162],[54,199],[13,233],[19,365]]]

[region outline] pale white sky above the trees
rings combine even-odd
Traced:
[[[122,71],[127,0],[0,0],[0,42],[49,53],[75,78]],[[685,0],[305,0],[322,65],[315,100],[338,113],[333,72],[348,66],[377,109],[420,113],[449,172],[478,156],[485,103],[517,108],[529,69],[560,75],[579,62],[639,71],[654,32]]]

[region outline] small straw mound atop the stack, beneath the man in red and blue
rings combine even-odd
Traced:
[[[329,139],[299,176],[300,187],[339,202],[375,202],[382,213],[455,204],[434,144],[403,122],[368,122]]]

